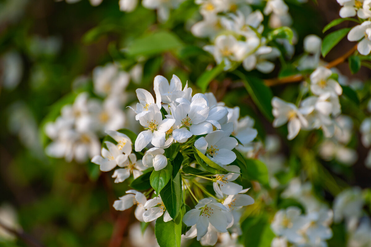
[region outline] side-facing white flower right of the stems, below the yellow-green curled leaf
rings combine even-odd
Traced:
[[[217,195],[237,195],[242,191],[242,186],[232,181],[240,176],[240,168],[237,165],[230,165],[226,167],[227,174],[216,174],[216,182],[213,183],[214,191]]]

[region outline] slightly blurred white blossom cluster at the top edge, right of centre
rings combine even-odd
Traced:
[[[233,63],[242,62],[247,71],[272,72],[275,65],[270,60],[279,57],[280,52],[275,47],[266,46],[267,39],[262,37],[263,13],[253,11],[249,4],[260,1],[196,0],[196,3],[200,4],[203,20],[194,24],[191,32],[213,42],[213,45],[204,46],[204,50],[214,56],[217,64],[223,62],[224,70],[228,70]],[[288,6],[282,0],[267,1],[264,14],[271,13],[271,19],[289,17]]]

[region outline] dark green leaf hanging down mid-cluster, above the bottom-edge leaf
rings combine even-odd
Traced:
[[[178,172],[178,174],[170,180],[170,182],[168,182],[160,192],[162,202],[164,202],[166,210],[173,219],[178,216],[180,210],[182,199],[181,184],[181,177]]]

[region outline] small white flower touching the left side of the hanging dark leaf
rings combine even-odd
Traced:
[[[161,215],[164,215],[164,222],[172,220],[168,211],[166,211],[165,205],[162,202],[160,195],[148,200],[144,204],[145,212],[143,213],[143,221],[150,222],[156,220]]]

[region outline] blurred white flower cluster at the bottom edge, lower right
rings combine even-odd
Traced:
[[[283,198],[293,198],[305,208],[305,214],[296,206],[279,210],[271,224],[276,234],[272,241],[274,247],[287,246],[327,246],[326,240],[332,237],[330,225],[333,212],[319,202],[312,193],[310,182],[301,183],[299,178],[291,180],[282,193]]]

